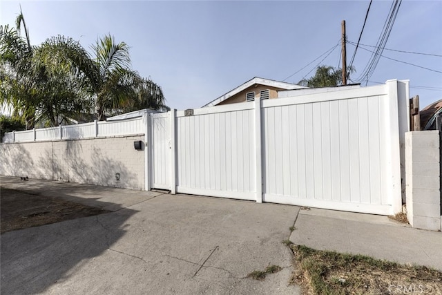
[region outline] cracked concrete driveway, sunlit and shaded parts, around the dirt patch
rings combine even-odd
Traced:
[[[298,207],[44,180],[3,187],[111,213],[1,235],[2,294],[296,294]],[[253,270],[278,265],[265,280]]]

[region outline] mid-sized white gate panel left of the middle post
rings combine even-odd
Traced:
[[[177,113],[177,192],[255,200],[253,109],[194,111]]]

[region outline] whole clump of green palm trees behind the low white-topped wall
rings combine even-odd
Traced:
[[[168,109],[160,86],[131,70],[124,42],[106,35],[91,46],[93,55],[64,36],[31,46],[22,12],[16,25],[0,26],[0,104],[12,106],[28,129],[35,122],[57,126],[80,113],[104,120],[137,108]]]

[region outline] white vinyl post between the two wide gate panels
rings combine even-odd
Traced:
[[[256,202],[262,203],[262,141],[261,141],[261,97],[255,97],[255,182]]]

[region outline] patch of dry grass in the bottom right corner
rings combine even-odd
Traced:
[[[291,283],[304,294],[442,294],[442,272],[367,256],[291,245]]]

